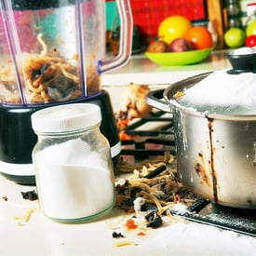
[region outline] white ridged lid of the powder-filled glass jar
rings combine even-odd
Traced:
[[[89,128],[101,122],[96,104],[72,103],[47,107],[31,115],[32,128],[39,132],[62,132]]]

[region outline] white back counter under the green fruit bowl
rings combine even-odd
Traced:
[[[150,85],[174,83],[188,76],[230,67],[229,61],[224,58],[225,52],[214,51],[207,60],[185,66],[158,66],[143,54],[131,56],[125,66],[102,74],[102,86],[122,86],[130,82]]]

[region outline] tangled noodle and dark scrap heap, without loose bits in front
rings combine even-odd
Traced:
[[[186,206],[190,206],[195,202],[196,196],[185,190],[182,183],[179,182],[179,178],[175,165],[175,159],[166,154],[157,163],[151,160],[142,161],[136,164],[132,174],[127,179],[119,179],[116,181],[116,205],[126,210],[127,212],[139,211],[138,204],[135,205],[134,201],[138,198],[144,198],[145,206],[153,204],[157,207],[161,213],[167,209],[173,207],[176,203],[182,203]],[[159,168],[159,166],[166,166],[161,173],[157,174],[154,178],[146,179],[146,175]],[[119,172],[122,172],[122,168],[128,173],[128,168],[132,166],[120,165]],[[138,200],[138,199],[137,199]],[[135,201],[136,202],[136,201]],[[144,206],[141,206],[143,209]]]

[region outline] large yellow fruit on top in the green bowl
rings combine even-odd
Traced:
[[[180,15],[169,16],[159,24],[158,36],[169,44],[172,40],[183,37],[191,27],[192,23],[187,18]]]

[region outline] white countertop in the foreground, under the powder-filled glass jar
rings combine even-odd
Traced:
[[[101,220],[81,224],[52,222],[38,209],[37,201],[21,198],[20,192],[34,189],[17,185],[0,177],[0,255],[81,256],[81,255],[190,255],[236,256],[255,255],[256,238],[195,222],[164,220],[157,229],[126,231],[124,222],[130,215],[113,209]],[[34,209],[24,222],[28,210]],[[112,233],[121,232],[123,241],[131,245],[115,247],[120,239]]]

